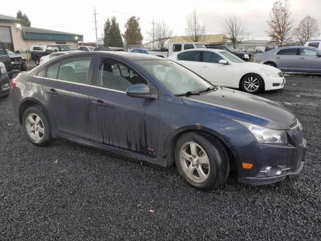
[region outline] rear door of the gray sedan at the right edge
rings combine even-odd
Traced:
[[[298,48],[286,48],[276,52],[273,59],[277,68],[283,71],[297,71],[298,57]]]

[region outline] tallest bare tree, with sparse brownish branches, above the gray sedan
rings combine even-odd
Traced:
[[[284,2],[276,1],[270,11],[269,18],[266,21],[269,27],[266,33],[270,39],[281,43],[281,45],[283,45],[283,42],[290,41],[293,36],[294,18],[288,0],[284,0]]]

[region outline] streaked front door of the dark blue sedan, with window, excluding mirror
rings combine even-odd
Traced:
[[[90,123],[93,142],[157,156],[159,101],[134,98],[126,89],[145,83],[157,89],[135,70],[112,58],[101,57],[91,86]]]

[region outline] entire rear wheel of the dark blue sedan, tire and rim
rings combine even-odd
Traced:
[[[40,118],[40,121],[37,116]],[[22,117],[22,124],[25,135],[32,144],[43,147],[53,140],[48,117],[40,106],[27,108]]]

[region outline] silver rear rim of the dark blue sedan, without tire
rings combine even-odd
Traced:
[[[45,134],[44,123],[39,115],[30,113],[26,119],[26,130],[35,142],[39,142],[43,139]]]

